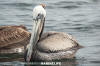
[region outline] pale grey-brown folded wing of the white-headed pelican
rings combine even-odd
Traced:
[[[69,50],[78,45],[76,40],[63,32],[47,32],[41,36],[38,49],[45,52]]]

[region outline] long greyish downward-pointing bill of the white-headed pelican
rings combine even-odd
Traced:
[[[38,14],[36,19],[33,19],[33,21],[34,24],[32,29],[32,35],[31,35],[30,44],[28,46],[28,52],[26,57],[27,62],[30,62],[32,52],[36,50],[36,44],[40,38],[41,32],[43,31],[45,18],[43,14]]]

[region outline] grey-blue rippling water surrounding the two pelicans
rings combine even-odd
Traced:
[[[32,30],[32,9],[47,5],[44,32],[73,35],[84,46],[73,61],[62,66],[100,66],[100,0],[0,0],[0,26],[25,25]],[[0,62],[0,66],[24,66],[24,62]]]

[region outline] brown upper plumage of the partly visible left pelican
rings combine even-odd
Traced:
[[[1,26],[0,48],[29,40],[30,32],[24,26]],[[24,42],[23,44],[24,45]],[[19,44],[20,46],[20,44]]]

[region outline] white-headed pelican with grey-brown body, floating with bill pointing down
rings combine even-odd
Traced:
[[[25,53],[26,61],[50,61],[73,58],[81,48],[77,41],[63,32],[46,32],[42,34],[46,17],[45,5],[33,9],[33,31]]]

